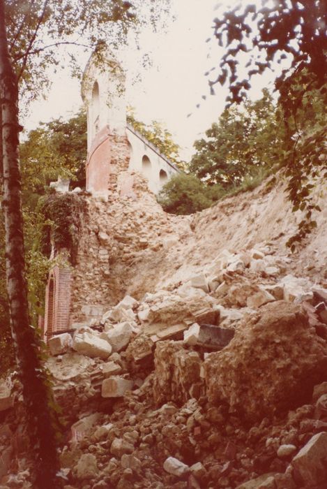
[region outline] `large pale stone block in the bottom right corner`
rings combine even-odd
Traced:
[[[294,457],[294,477],[306,487],[318,486],[327,480],[327,432],[314,435]]]

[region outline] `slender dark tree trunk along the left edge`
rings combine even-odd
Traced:
[[[24,263],[24,237],[19,166],[17,80],[10,63],[4,15],[0,0],[0,102],[1,102],[1,177],[2,207],[6,228],[6,279],[10,319],[17,358],[17,369],[23,386],[27,428],[33,458],[33,487],[61,487],[56,477],[56,416],[51,391],[40,358],[40,339],[29,321],[27,284]]]

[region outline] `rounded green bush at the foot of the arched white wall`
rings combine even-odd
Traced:
[[[174,175],[158,194],[158,203],[171,214],[193,214],[213,205],[224,191],[220,185],[206,186],[195,175]]]

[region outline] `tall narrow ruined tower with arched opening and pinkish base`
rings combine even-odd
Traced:
[[[114,189],[116,175],[128,168],[125,73],[106,45],[86,65],[82,98],[87,112],[86,190]]]

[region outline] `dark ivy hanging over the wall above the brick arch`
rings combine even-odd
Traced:
[[[86,217],[86,201],[77,194],[52,194],[41,199],[43,217],[42,251],[49,256],[52,242],[56,251],[67,249],[72,265],[76,264],[79,231]]]

